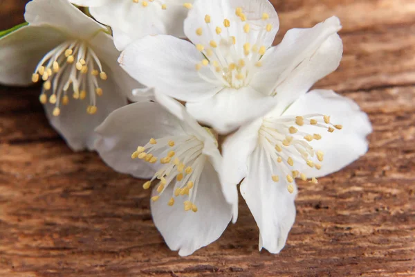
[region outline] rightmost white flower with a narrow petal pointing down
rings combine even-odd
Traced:
[[[276,98],[291,103],[291,94]],[[355,102],[315,90],[225,141],[223,183],[245,178],[240,190],[259,227],[259,250],[279,253],[284,247],[295,221],[295,178],[317,183],[317,177],[349,165],[367,152],[369,133],[369,119]]]

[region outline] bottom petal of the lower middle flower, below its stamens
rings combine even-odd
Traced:
[[[221,236],[230,222],[232,211],[223,198],[219,178],[210,163],[205,164],[198,184],[194,201],[197,213],[184,210],[182,202],[187,200],[185,196],[176,198],[174,206],[167,205],[173,195],[172,185],[157,202],[151,202],[151,213],[169,248],[178,250],[180,256],[188,256]]]

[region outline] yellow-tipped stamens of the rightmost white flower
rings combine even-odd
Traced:
[[[308,114],[306,116],[282,116],[279,118],[265,118],[259,129],[259,142],[266,150],[270,168],[278,168],[284,176],[288,191],[293,193],[293,181],[301,178],[306,181],[307,177],[301,172],[302,168],[308,166],[320,170],[320,162],[323,161],[324,153],[314,150],[310,142],[319,141],[322,135],[316,133],[308,134],[304,129],[326,130],[334,132],[342,129],[342,125],[330,123],[330,116],[322,114]],[[270,176],[273,181],[279,182],[279,175]],[[312,178],[311,182],[317,183]]]

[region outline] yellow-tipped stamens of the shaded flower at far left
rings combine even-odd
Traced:
[[[99,77],[98,77],[99,76]],[[96,96],[102,96],[98,79],[107,80],[98,56],[86,42],[67,41],[49,51],[39,62],[32,81],[44,80],[40,102],[55,105],[53,116],[59,116],[61,104],[68,105],[68,90],[72,88],[74,99],[89,96],[88,114],[97,111]],[[49,94],[49,96],[47,96]]]

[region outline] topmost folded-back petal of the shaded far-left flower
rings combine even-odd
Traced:
[[[33,0],[26,5],[24,18],[30,25],[48,25],[72,37],[89,39],[105,27],[95,22],[67,0]]]

